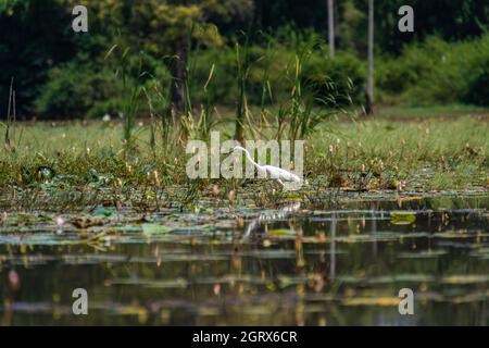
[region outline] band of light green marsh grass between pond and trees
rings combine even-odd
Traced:
[[[425,110],[425,119],[406,122],[381,116],[384,112],[375,119],[342,116],[322,123],[305,142],[310,185],[304,191],[331,187],[416,191],[489,187],[487,117],[435,117],[430,114],[432,110]],[[415,111],[404,110],[404,114],[410,112]],[[233,136],[233,125],[228,122],[216,127],[222,130],[221,141]],[[153,150],[149,121],[136,122],[135,150],[125,156],[123,126],[120,121],[17,123],[13,149],[5,148],[0,153],[0,191],[15,196],[17,190],[26,190],[29,192],[26,197],[49,198],[55,192],[112,195],[136,189],[141,204],[149,204],[141,198],[145,195],[154,198],[161,187],[170,186],[187,187],[186,194],[178,198],[184,203],[199,195],[209,196],[212,185],[222,188],[220,198],[231,190],[247,191],[237,181],[188,179],[185,172],[188,156],[184,144],[177,141],[176,126],[172,130],[172,146],[164,147],[161,137],[156,137]],[[267,135],[273,137],[275,129],[264,133]],[[269,196],[268,189],[258,187],[258,203],[284,198]],[[84,201],[79,197],[73,200]]]

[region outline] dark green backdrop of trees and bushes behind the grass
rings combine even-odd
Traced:
[[[290,97],[291,69],[300,47],[313,48],[302,79],[317,98],[331,95],[344,104],[363,101],[366,1],[336,1],[338,54],[324,41],[325,1],[86,1],[89,33],[71,28],[72,0],[0,2],[0,117],[12,77],[21,116],[101,116],[123,108],[123,83],[114,45],[145,52],[148,74],[166,84],[178,73],[175,54],[189,42],[189,87],[193,105],[235,105],[238,94],[236,42],[250,53],[249,103],[280,103]],[[398,10],[415,9],[415,32],[397,29]],[[388,102],[488,104],[489,3],[485,0],[376,1],[377,97]],[[246,34],[243,34],[246,33]],[[244,40],[243,37],[248,39]],[[312,45],[311,45],[312,44]],[[137,65],[137,63],[135,63]],[[209,85],[203,86],[213,71]],[[176,73],[175,73],[176,72]],[[137,78],[134,74],[131,78]],[[264,85],[269,90],[264,96]],[[204,96],[205,95],[205,96]]]

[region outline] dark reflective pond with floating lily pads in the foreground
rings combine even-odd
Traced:
[[[3,325],[488,324],[487,195],[99,213],[85,228],[4,219]],[[76,288],[88,315],[73,314]],[[399,313],[402,288],[413,315]]]

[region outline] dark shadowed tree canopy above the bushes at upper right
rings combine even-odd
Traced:
[[[327,11],[318,11],[326,0],[254,0],[256,25],[276,29],[293,23],[299,29],[314,28],[326,35]],[[339,48],[354,48],[359,54],[366,51],[368,1],[342,0],[337,9],[336,27]],[[398,30],[398,10],[402,5],[414,9],[414,33]],[[456,40],[479,36],[488,29],[489,1],[487,0],[383,0],[375,5],[375,26],[383,33],[376,46],[388,53],[398,54],[404,44],[423,40],[429,35]]]

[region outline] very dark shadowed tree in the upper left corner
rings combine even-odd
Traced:
[[[71,21],[54,0],[0,1],[0,117],[12,77],[22,117],[32,112],[48,70],[74,57]]]

